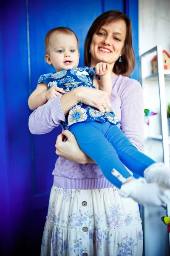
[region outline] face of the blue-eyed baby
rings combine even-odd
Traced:
[[[48,52],[56,71],[78,67],[79,49],[75,35],[54,32],[50,37]]]

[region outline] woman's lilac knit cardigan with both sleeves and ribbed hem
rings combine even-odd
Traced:
[[[126,76],[112,77],[112,109],[121,120],[121,129],[129,140],[143,151],[144,108],[142,87]],[[32,134],[45,134],[65,121],[61,96],[50,99],[29,116]],[[53,170],[54,185],[70,189],[101,189],[113,187],[96,164],[79,164],[59,157]]]

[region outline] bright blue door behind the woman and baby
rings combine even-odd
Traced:
[[[94,19],[118,9],[133,22],[139,79],[138,0],[6,0],[0,5],[0,256],[40,255],[52,171],[57,159],[50,134],[28,130],[28,96],[39,76],[52,70],[44,61],[44,37],[57,26],[70,27],[83,44]]]

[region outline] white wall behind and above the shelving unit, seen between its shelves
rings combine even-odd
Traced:
[[[170,0],[139,0],[139,55],[156,45],[161,45],[162,49],[170,52]],[[148,57],[148,64],[146,63],[145,66],[149,72],[151,71],[150,60],[153,55]],[[160,124],[160,106],[157,101],[159,91],[156,79],[142,83],[143,85],[145,87],[144,107],[152,108],[152,111],[158,113],[156,116],[150,117],[150,127],[145,125],[146,139],[148,134],[160,133],[160,126],[154,125],[154,121]],[[166,82],[165,86],[166,94],[170,95],[170,82]],[[168,101],[169,99],[167,99]],[[145,154],[161,161],[163,159],[161,142],[145,140]],[[142,207],[142,215],[145,256],[170,255],[167,226],[161,221],[161,217],[166,215],[166,210],[161,207]]]

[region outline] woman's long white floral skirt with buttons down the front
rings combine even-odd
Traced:
[[[139,207],[118,189],[51,189],[41,256],[142,256]]]

